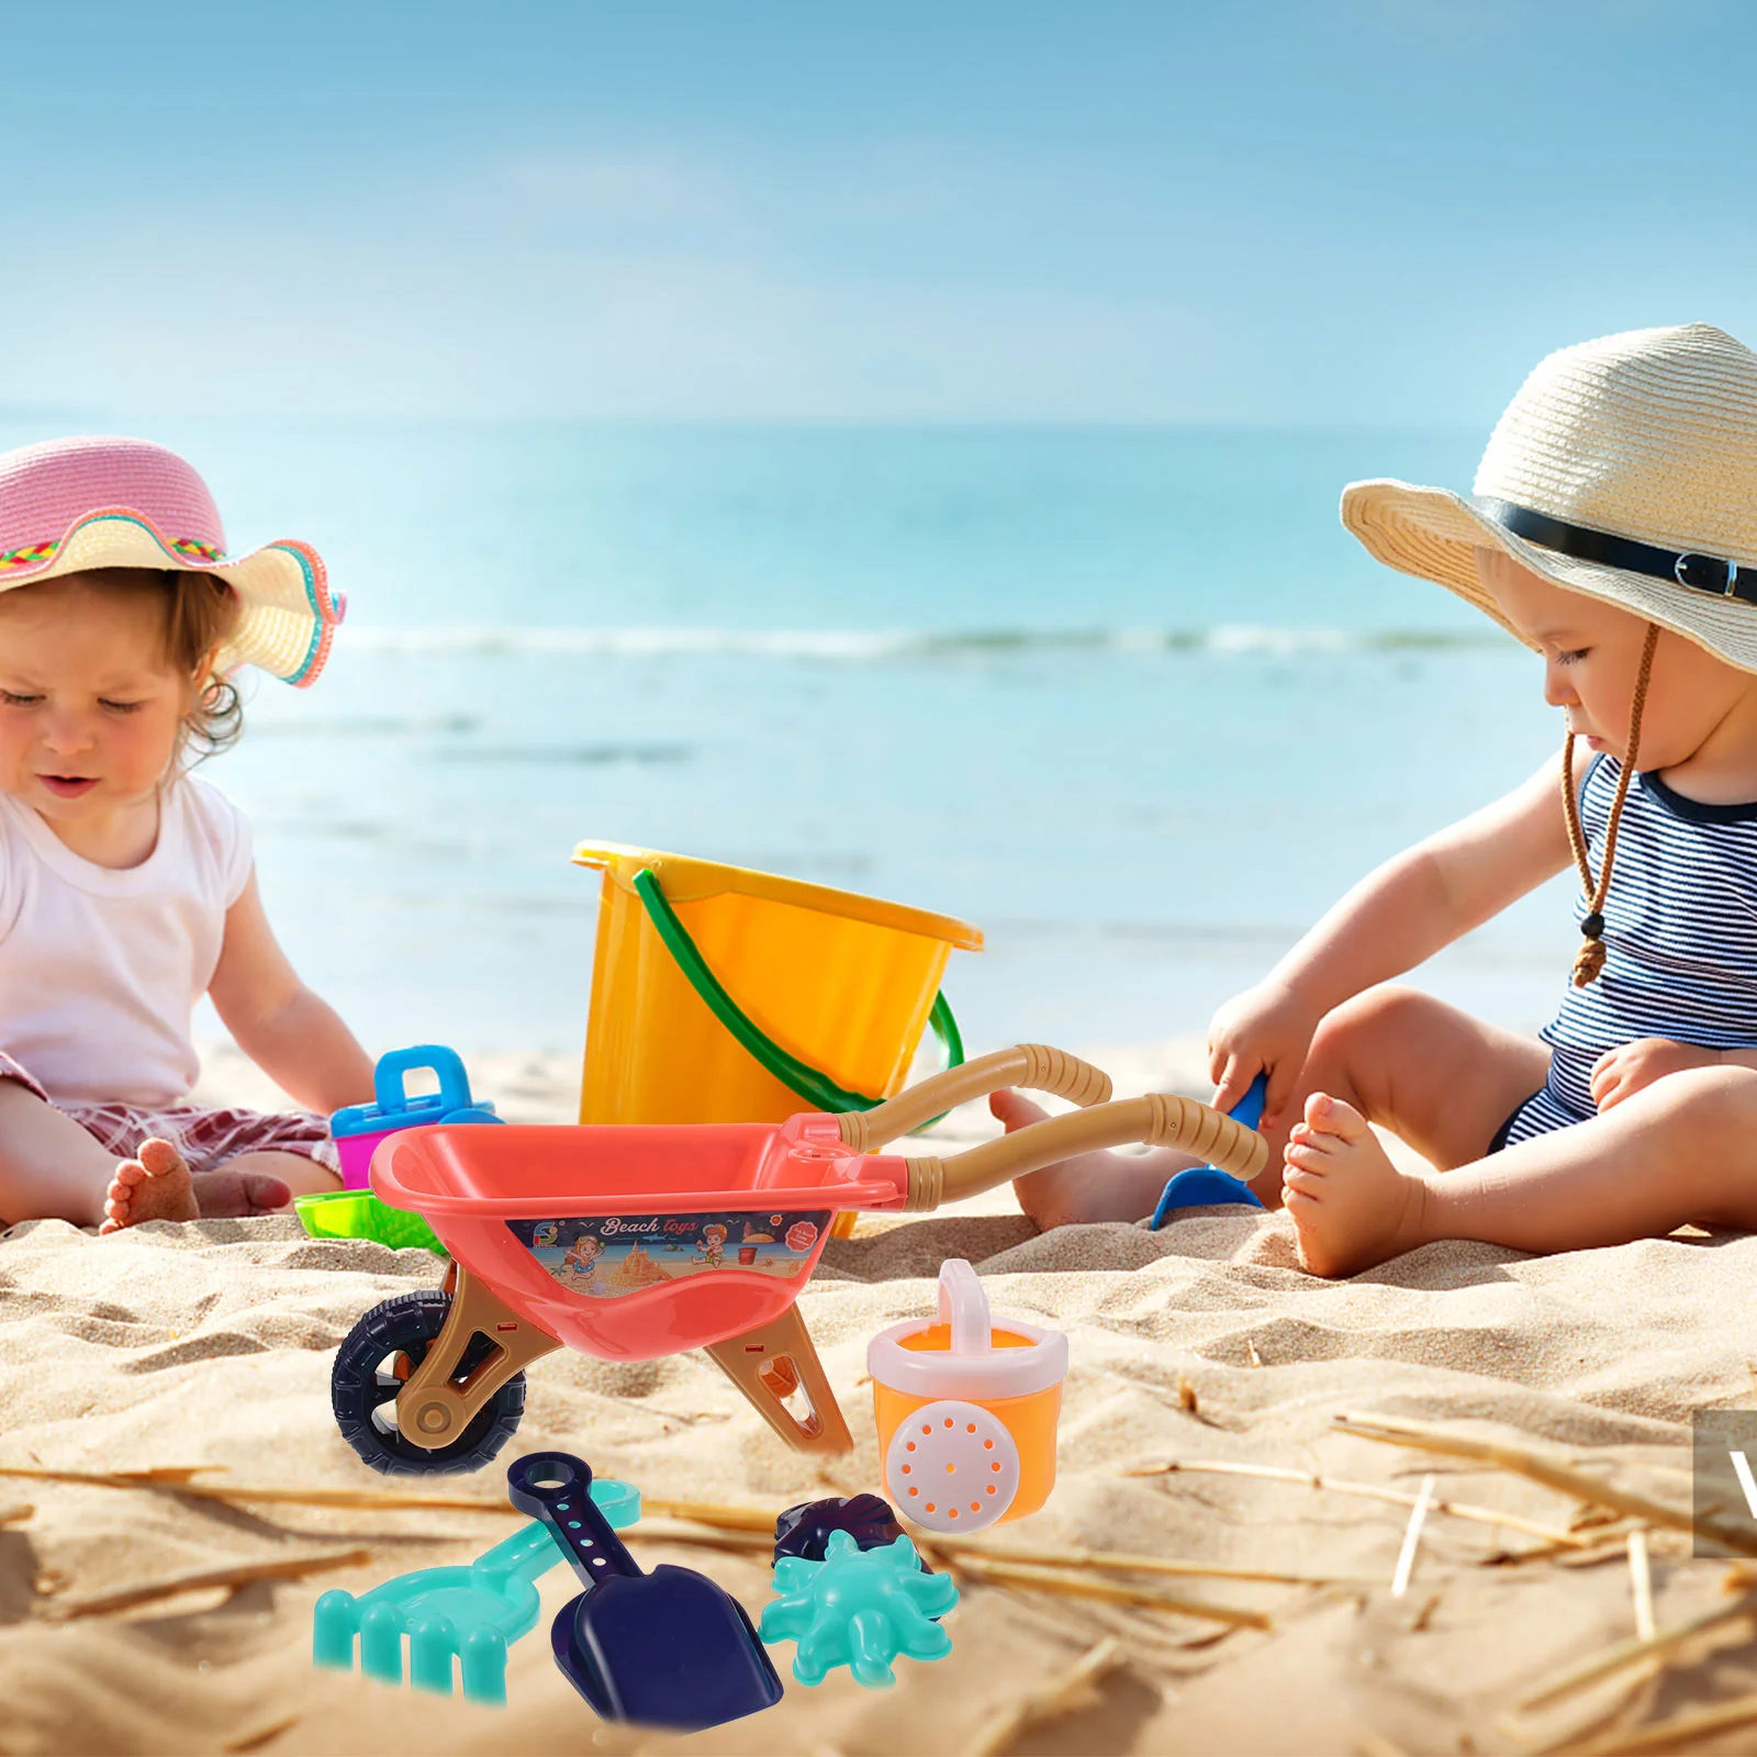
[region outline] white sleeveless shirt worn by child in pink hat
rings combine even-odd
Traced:
[[[195,1003],[249,870],[249,822],[193,775],[165,787],[158,842],[125,870],[0,794],[0,1049],[58,1102],[184,1098]]]

